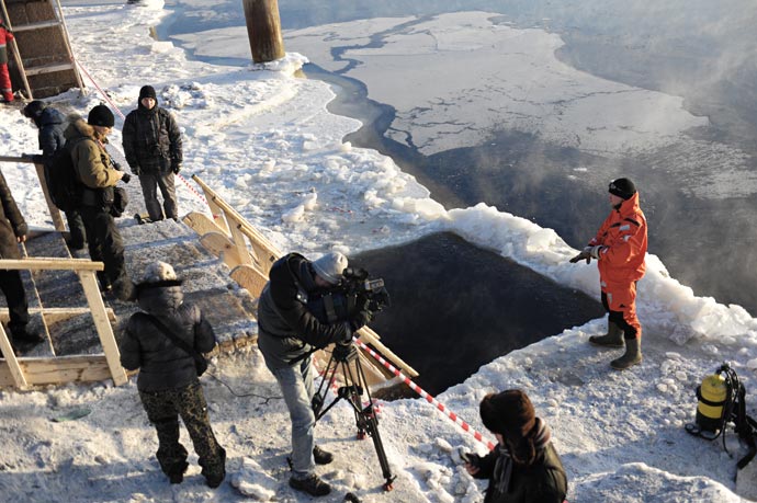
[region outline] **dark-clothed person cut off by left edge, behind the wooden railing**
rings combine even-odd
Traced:
[[[26,241],[26,221],[15,205],[5,178],[0,172],[0,259],[21,259],[19,243]],[[29,332],[29,302],[21,273],[16,270],[0,270],[0,289],[8,301],[10,315],[10,342],[15,350],[27,348],[42,342],[42,338]]]

